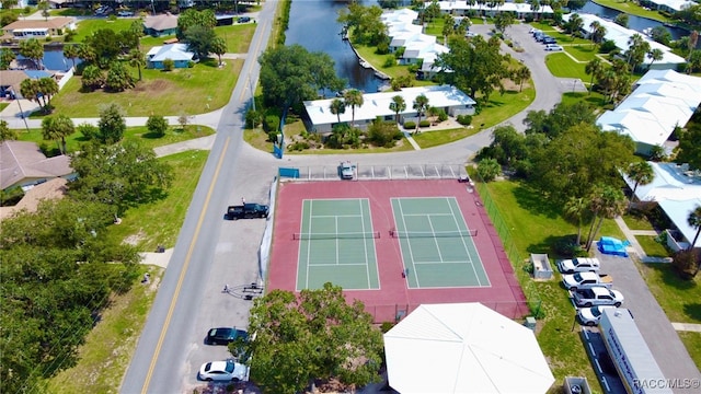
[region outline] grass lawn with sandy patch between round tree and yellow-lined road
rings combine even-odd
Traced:
[[[165,198],[127,210],[122,224],[110,227],[110,236],[128,240],[139,251],[173,247],[208,155],[209,151],[193,150],[159,159],[173,167]]]

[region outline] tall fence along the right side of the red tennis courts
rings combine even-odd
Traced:
[[[543,313],[544,313],[544,311],[541,308],[542,298],[540,297],[538,287],[536,286],[536,283],[530,277],[529,264],[525,263],[525,262],[529,262],[527,258],[528,256],[521,255],[521,253],[518,251],[518,247],[516,247],[516,243],[514,242],[514,235],[509,230],[510,225],[506,223],[504,216],[502,216],[502,212],[499,212],[499,209],[496,206],[496,202],[494,202],[494,199],[492,198],[487,183],[484,182],[484,179],[482,179],[482,177],[476,173],[476,171],[474,172],[474,174],[471,174],[471,175],[473,175],[473,179],[475,181],[474,187],[476,188],[478,193],[480,194],[480,197],[482,198],[482,204],[484,205],[484,209],[490,216],[490,219],[494,224],[494,229],[496,230],[497,234],[499,235],[499,239],[502,240],[504,252],[506,253],[506,256],[512,263],[512,267],[514,268],[514,274],[516,275],[518,282],[520,283],[521,289],[524,290],[524,294],[526,296],[526,300],[530,308],[530,313],[536,318],[541,318],[543,317]]]

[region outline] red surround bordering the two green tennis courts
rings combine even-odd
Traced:
[[[395,229],[391,199],[397,197],[455,197],[473,237],[491,287],[409,289],[402,273],[404,266],[399,239],[390,236]],[[502,242],[473,187],[456,179],[437,181],[357,181],[357,182],[283,182],[275,208],[275,229],[267,289],[295,291],[300,242],[302,200],[331,198],[367,198],[370,201],[379,290],[345,291],[348,301],[365,303],[376,322],[391,322],[409,314],[422,303],[481,302],[508,316],[529,313],[526,297],[514,275]]]

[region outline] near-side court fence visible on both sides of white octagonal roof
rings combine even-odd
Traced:
[[[528,301],[480,301],[484,306],[512,318],[521,320],[531,314]],[[381,304],[366,305],[365,310],[372,315],[375,324],[398,323],[418,308],[420,304]]]

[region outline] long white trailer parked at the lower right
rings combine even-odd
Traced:
[[[671,394],[631,313],[625,309],[601,312],[599,332],[628,393]]]

